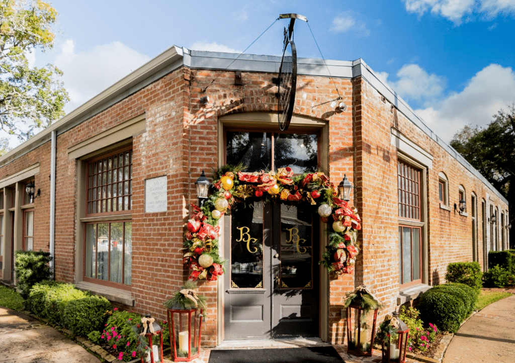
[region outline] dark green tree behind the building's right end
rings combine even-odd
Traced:
[[[515,103],[499,111],[485,128],[465,126],[451,146],[499,190],[509,203],[509,223],[515,225]],[[515,227],[515,226],[514,226]],[[510,229],[515,248],[515,228]]]

